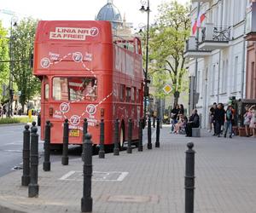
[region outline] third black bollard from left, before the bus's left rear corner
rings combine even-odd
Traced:
[[[49,171],[50,170],[49,144],[50,144],[50,123],[49,123],[49,120],[48,120],[48,121],[46,121],[45,131],[44,131],[44,163],[43,163],[43,170],[44,171]]]

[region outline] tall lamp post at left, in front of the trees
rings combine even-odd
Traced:
[[[17,26],[17,17],[11,18],[10,37],[9,37],[9,55],[10,55],[10,70],[9,70],[9,105],[8,105],[8,116],[11,117],[13,114],[13,72],[14,72],[14,55],[13,55],[13,26]]]

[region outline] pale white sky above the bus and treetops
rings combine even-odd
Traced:
[[[188,1],[190,0],[177,0],[179,3]],[[96,14],[107,2],[108,0],[0,0],[0,20],[3,20],[4,27],[10,26],[12,15],[4,14],[6,10],[14,12],[18,19],[32,17],[39,20],[95,20]],[[139,11],[143,2],[147,3],[147,0],[113,0],[122,17],[125,14],[126,21],[133,23],[133,28],[147,22],[147,15]],[[164,0],[149,0],[151,23],[157,14],[157,6],[162,2]]]

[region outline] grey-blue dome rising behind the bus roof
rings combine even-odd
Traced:
[[[113,0],[108,0],[96,16],[96,20],[109,20],[113,28],[121,26],[123,21],[119,9],[113,5]]]

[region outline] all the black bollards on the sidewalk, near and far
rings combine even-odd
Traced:
[[[36,123],[32,123],[31,131],[29,125],[25,126],[23,131],[23,175],[21,177],[21,185],[28,186],[28,197],[38,197],[39,186],[38,186],[38,128],[35,126]],[[49,121],[45,125],[45,139],[44,139],[44,164],[43,170],[50,170],[49,162],[49,144],[50,144],[50,126]],[[131,136],[132,136],[132,122],[129,119],[128,129],[128,149],[127,153],[131,153]],[[116,119],[114,124],[114,149],[113,154],[119,155],[119,120]],[[150,126],[150,120],[148,119],[148,127]],[[156,130],[156,142],[155,147],[160,147],[160,120],[157,119],[157,130]],[[91,212],[93,199],[91,198],[91,176],[92,176],[92,142],[91,135],[87,133],[87,120],[84,119],[84,133],[83,133],[83,174],[84,174],[84,186],[83,186],[83,197],[81,199],[81,211]],[[63,153],[61,162],[62,164],[68,164],[67,157],[67,146],[68,146],[68,120],[64,123],[63,133]],[[151,129],[148,132],[151,133]],[[151,135],[150,141],[151,143]],[[31,144],[30,144],[31,141]],[[100,134],[101,145],[104,144],[104,122],[101,122],[101,134]],[[138,151],[143,151],[143,120],[139,121],[139,143]],[[64,148],[64,143],[66,147]],[[150,147],[150,146],[149,146]],[[186,168],[185,168],[185,213],[194,213],[194,191],[195,191],[195,151],[193,150],[194,144],[189,142],[187,144],[189,148],[186,151]],[[152,143],[151,143],[152,148]],[[102,147],[102,151],[104,147]],[[105,153],[102,153],[104,156]]]

